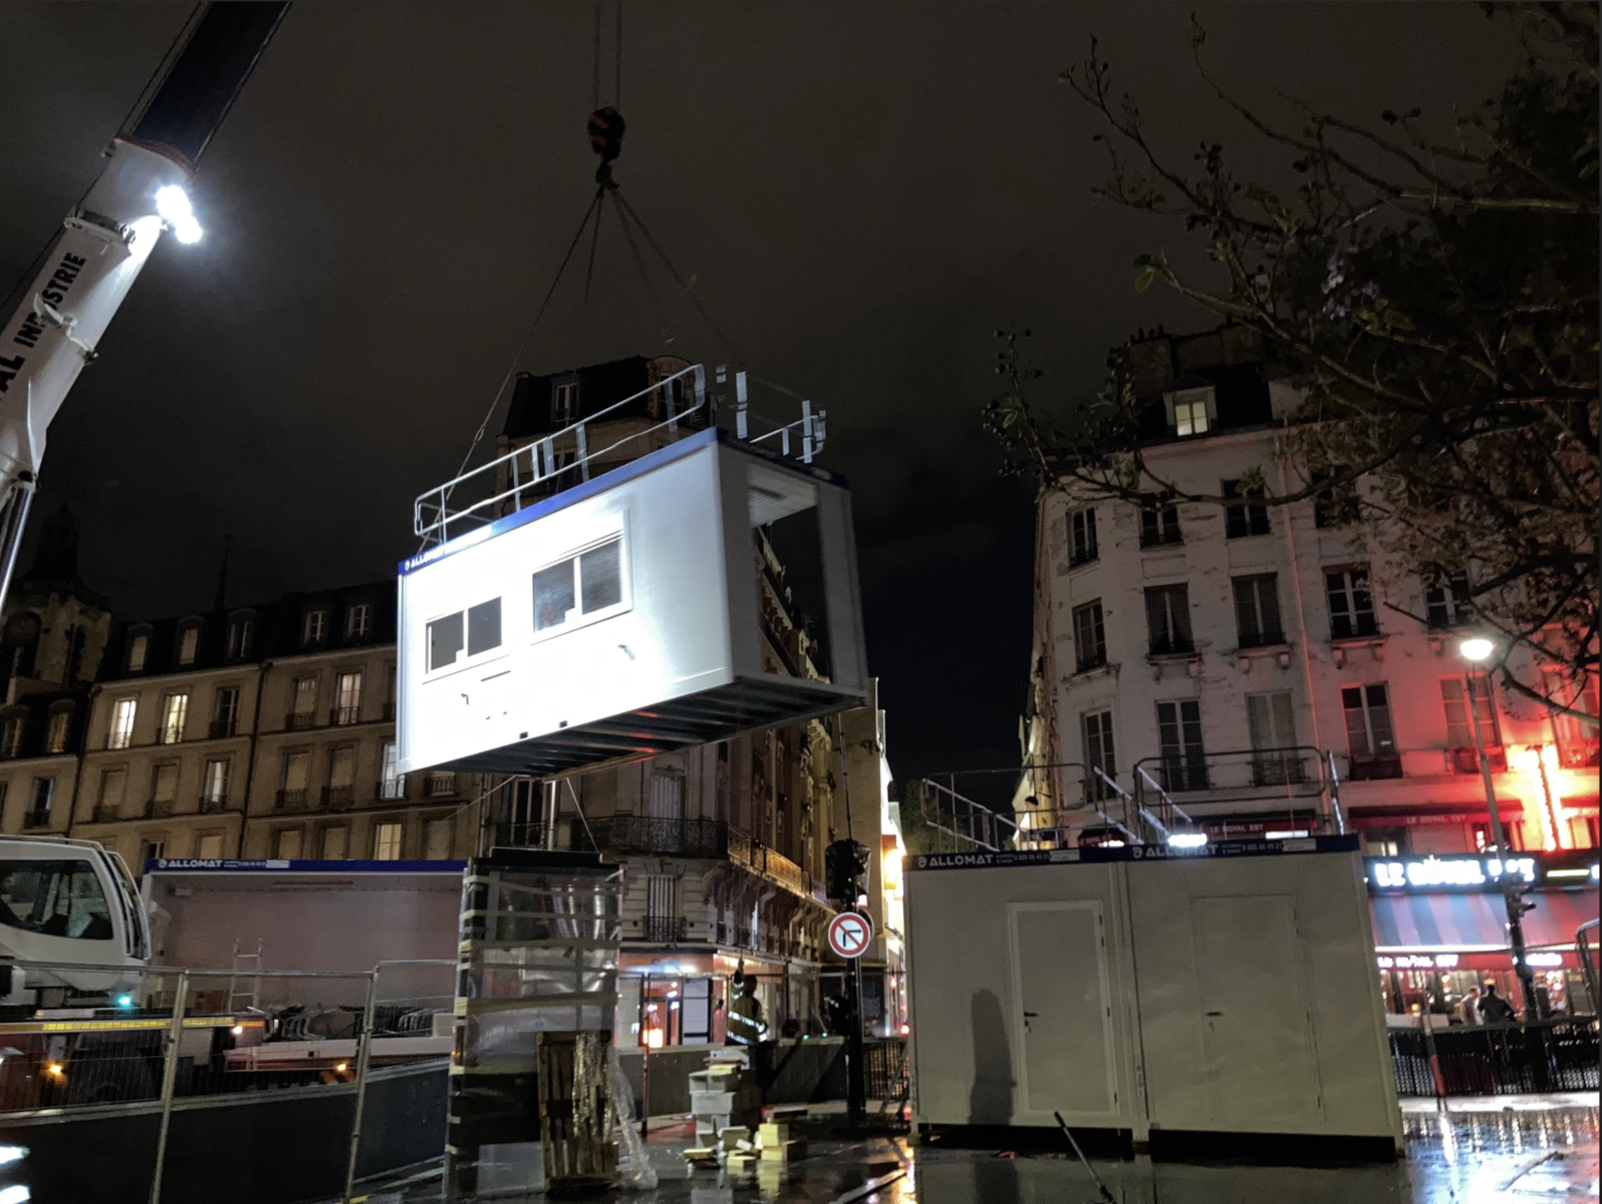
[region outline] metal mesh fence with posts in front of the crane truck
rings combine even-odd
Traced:
[[[13,996],[26,988],[62,1005],[0,1007],[0,1127],[157,1110],[147,1196],[157,1204],[173,1158],[203,1161],[168,1150],[175,1106],[354,1087],[349,1132],[330,1135],[348,1140],[340,1161],[349,1196],[370,1073],[449,1057],[455,969],[455,961],[356,972],[6,962]]]

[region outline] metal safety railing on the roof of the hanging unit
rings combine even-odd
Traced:
[[[764,447],[769,453],[777,451],[782,456],[795,456],[811,464],[823,450],[827,413],[823,410],[812,410],[809,400],[799,399],[801,418],[788,424],[771,423],[750,411],[747,373],[737,370],[732,375],[735,384],[735,439]],[[724,383],[727,376],[729,368],[719,365],[716,368],[718,383]],[[689,399],[682,397],[682,389],[674,387],[674,384],[686,379],[692,383]],[[614,439],[606,447],[591,447],[591,437],[598,423],[620,419],[628,407],[641,399],[649,399],[652,394],[660,394],[660,408],[654,410],[647,405],[647,415],[666,413],[666,418],[620,439]],[[689,403],[684,403],[686,400]],[[697,415],[708,415],[710,421],[705,423],[708,426],[714,424],[718,418],[716,399],[706,392],[706,367],[703,363],[692,363],[687,368],[681,368],[671,376],[665,376],[655,384],[649,384],[604,410],[598,410],[586,418],[564,426],[561,431],[513,448],[503,456],[497,456],[485,464],[452,477],[442,485],[426,490],[412,503],[412,530],[423,541],[425,549],[445,543],[457,535],[465,535],[466,530],[484,527],[501,517],[501,508],[506,503],[511,503],[513,511],[522,509],[524,493],[537,498],[548,496],[570,485],[590,480],[591,468],[604,471],[604,468],[615,468],[623,460],[633,460],[634,456],[626,451],[618,455],[620,448],[626,448],[630,443],[642,445],[639,455],[644,455],[644,451],[654,450],[652,437],[665,435],[666,443],[678,442],[684,434],[698,429],[700,423],[694,421]],[[753,421],[771,429],[759,435],[751,435]],[[503,466],[508,471],[511,484],[509,488],[497,490],[495,487],[500,482]],[[474,487],[482,487],[485,480],[490,484],[489,496],[476,501],[453,501],[458,490],[471,495]],[[466,488],[463,490],[463,487]]]

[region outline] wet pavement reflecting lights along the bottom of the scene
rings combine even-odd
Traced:
[[[1594,1097],[1592,1097],[1594,1098]],[[1588,1204],[1597,1199],[1597,1108],[1410,1111],[1407,1158],[1394,1166],[1190,1166],[1096,1161],[1118,1204]],[[814,1142],[799,1162],[689,1170],[681,1132],[654,1134],[660,1183],[633,1204],[1096,1204],[1072,1156],[912,1146],[902,1138]],[[437,1174],[380,1188],[365,1204],[441,1199]],[[503,1198],[505,1199],[505,1198]],[[591,1198],[596,1199],[596,1198]]]

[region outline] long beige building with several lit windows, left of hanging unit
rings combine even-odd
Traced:
[[[0,752],[18,720],[32,754],[0,759],[5,829],[93,839],[135,873],[160,857],[466,857],[477,778],[394,772],[394,623],[380,581],[115,624],[78,727],[53,719],[72,701],[59,690],[0,712]]]

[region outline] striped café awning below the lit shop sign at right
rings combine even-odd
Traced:
[[[1568,948],[1575,929],[1597,917],[1596,890],[1533,890],[1524,914],[1524,943]],[[1488,953],[1507,948],[1507,909],[1501,895],[1434,892],[1376,895],[1368,900],[1379,953],[1411,949]]]

